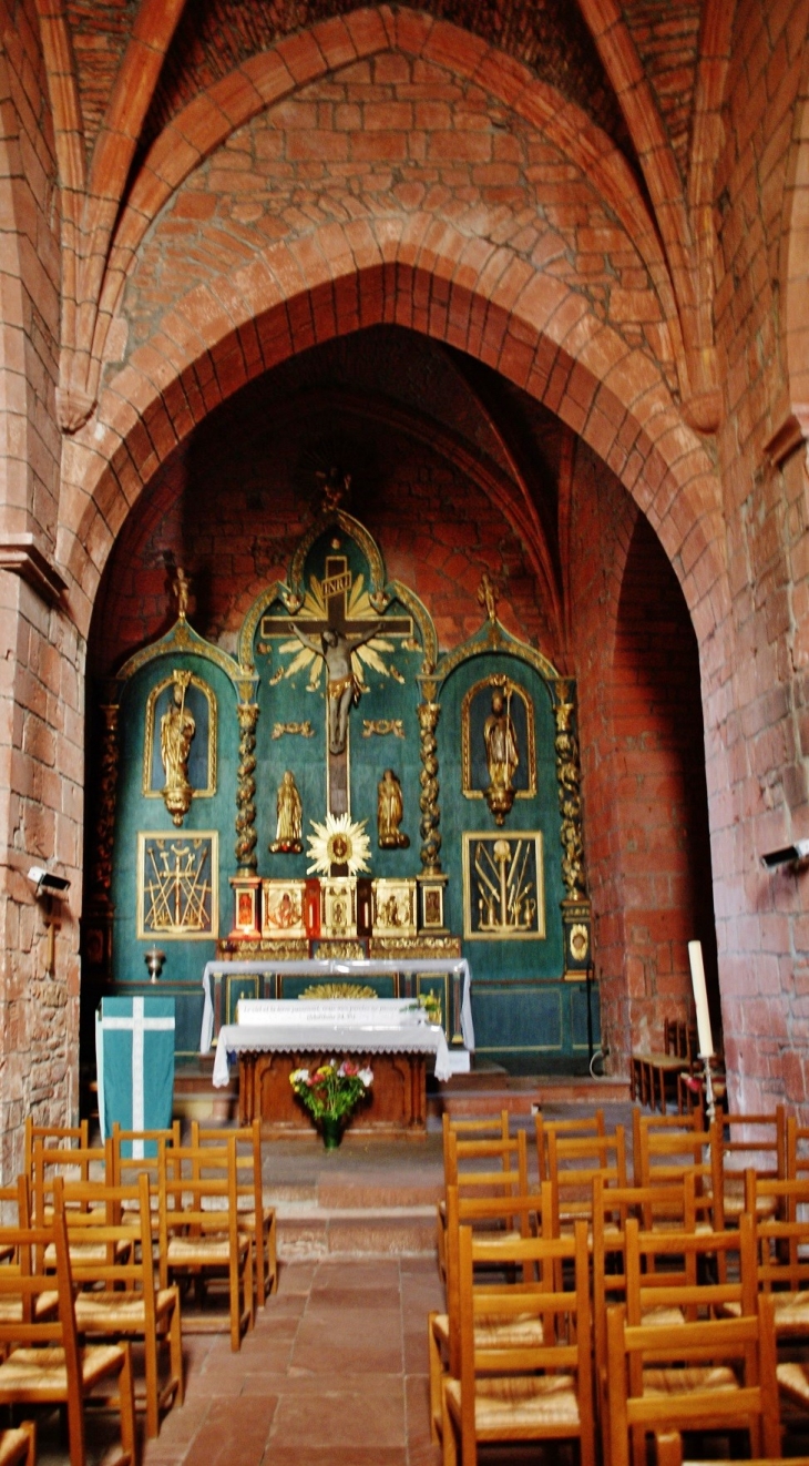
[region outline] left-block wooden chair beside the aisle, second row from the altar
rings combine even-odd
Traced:
[[[252,1237],[239,1224],[236,1136],[218,1146],[164,1146],[160,1155],[160,1287],[193,1278],[198,1300],[207,1284],[227,1280],[230,1347],[254,1324]],[[221,1330],[223,1318],[186,1315],[186,1331]]]

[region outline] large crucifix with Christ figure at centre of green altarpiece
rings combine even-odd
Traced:
[[[349,616],[352,572],[346,556],[328,554],[324,572],[321,591],[325,616],[306,616],[300,625],[289,616],[264,616],[261,635],[289,636],[292,630],[308,651],[322,657],[325,663],[328,809],[333,815],[341,815],[349,814],[349,714],[362,692],[352,667],[352,652],[374,636],[412,636],[413,622],[409,616],[388,616],[377,622]]]

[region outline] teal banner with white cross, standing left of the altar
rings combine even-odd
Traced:
[[[174,1097],[174,1000],[103,998],[95,1014],[98,1119],[104,1139],[123,1130],[163,1130]],[[144,1141],[132,1142],[142,1160]]]

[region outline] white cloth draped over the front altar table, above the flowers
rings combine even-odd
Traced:
[[[217,1039],[214,1085],[230,1078],[229,1057],[256,1051],[319,1050],[337,1054],[435,1054],[435,1078],[451,1078],[444,1029],[413,1010],[410,998],[242,998],[239,1022]]]

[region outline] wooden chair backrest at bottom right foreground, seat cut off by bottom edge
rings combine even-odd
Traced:
[[[771,1297],[761,1294],[756,1316],[698,1319],[681,1328],[632,1325],[626,1312],[626,1305],[607,1309],[610,1466],[645,1462],[646,1434],[671,1429],[745,1429],[753,1451],[764,1445],[780,1456]]]

